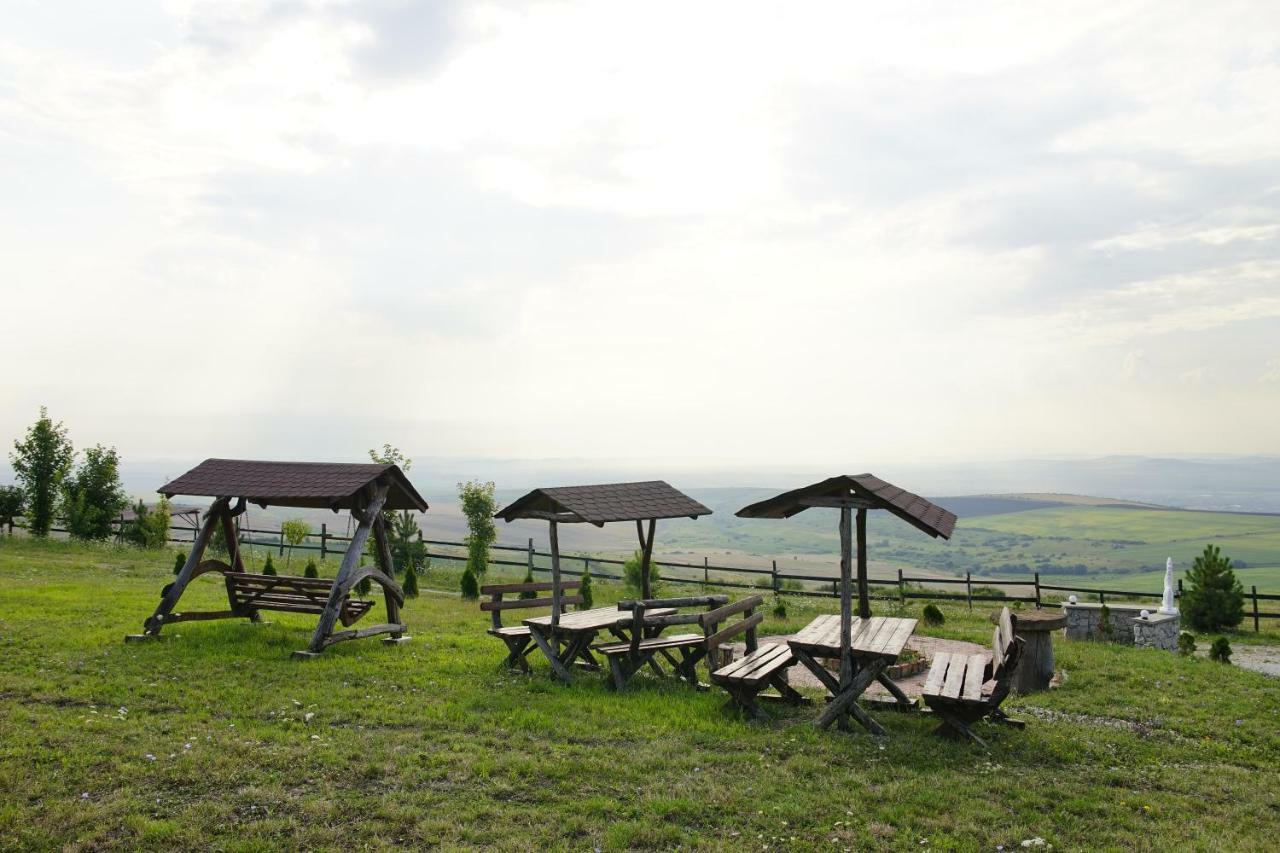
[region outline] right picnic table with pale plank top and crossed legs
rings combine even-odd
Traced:
[[[852,679],[841,686],[840,679],[824,667],[820,658],[840,658],[840,616],[824,613],[809,622],[799,634],[787,640],[796,660],[814,674],[831,693],[831,702],[818,717],[818,725],[829,726],[836,720],[841,727],[847,725],[846,715],[874,734],[884,734],[861,707],[858,698],[870,686],[872,681],[884,685],[893,699],[902,707],[914,707],[902,689],[884,674],[884,669],[897,661],[906,647],[906,640],[915,631],[916,620],[891,616],[872,616],[854,619],[850,625],[850,653],[852,654]]]

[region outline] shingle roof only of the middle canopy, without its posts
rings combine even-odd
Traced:
[[[588,521],[596,526],[607,521],[696,519],[710,515],[710,510],[687,494],[662,480],[649,480],[534,489],[507,505],[494,517],[512,521],[547,517],[549,512],[570,516],[562,519],[564,521]]]

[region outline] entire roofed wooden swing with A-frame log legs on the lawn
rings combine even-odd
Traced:
[[[128,639],[157,638],[160,630],[170,622],[230,617],[259,621],[260,610],[320,616],[311,644],[306,651],[294,652],[294,657],[311,657],[334,643],[378,634],[389,634],[385,642],[408,639],[404,637],[407,628],[399,619],[404,593],[394,580],[383,511],[425,512],[428,505],[396,465],[207,459],[157,491],[170,498],[175,494],[205,496],[212,497],[214,502],[205,512],[204,525],[178,578],[165,587],[160,605],[143,622],[145,633]],[[246,573],[234,519],[244,512],[248,503],[262,508],[285,506],[349,511],[358,524],[342,557],[337,578],[329,581]],[[221,528],[227,540],[229,564],[202,558],[216,528]],[[376,565],[357,566],[370,534],[376,543]],[[174,607],[187,585],[209,571],[224,575],[229,610],[175,613]],[[337,621],[351,625],[369,611],[371,602],[355,602],[349,598],[352,589],[365,578],[383,587],[387,622],[334,633]]]

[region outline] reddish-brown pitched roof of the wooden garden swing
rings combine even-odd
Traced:
[[[266,462],[246,459],[206,459],[157,492],[165,497],[200,494],[242,497],[261,507],[296,506],[349,510],[385,483],[384,510],[425,512],[426,501],[396,465],[376,462]]]

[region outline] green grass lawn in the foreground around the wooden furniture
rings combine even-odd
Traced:
[[[987,752],[920,715],[879,713],[877,739],[818,731],[812,708],[745,724],[716,690],[506,674],[488,616],[452,594],[410,602],[406,646],[315,661],[289,660],[306,616],[124,644],[172,565],[0,538],[4,848],[1265,849],[1280,833],[1280,680],[1235,667],[1061,643],[1064,686],[1006,703],[1028,727],[980,726]],[[193,584],[197,603],[225,606],[220,584]],[[795,630],[805,607],[765,626]],[[934,633],[989,639],[984,613],[943,610]]]

